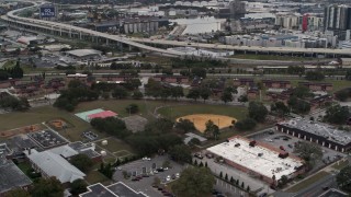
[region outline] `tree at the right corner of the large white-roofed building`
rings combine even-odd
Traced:
[[[305,160],[308,169],[312,169],[322,157],[321,148],[319,146],[306,141],[296,143],[294,152]]]

